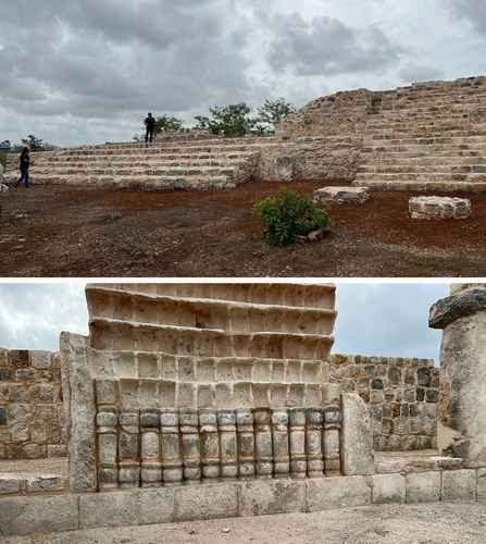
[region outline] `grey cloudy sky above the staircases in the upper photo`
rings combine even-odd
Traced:
[[[2,1],[0,140],[127,140],[148,110],[486,72],[479,0]]]

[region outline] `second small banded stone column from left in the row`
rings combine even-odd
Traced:
[[[121,487],[138,487],[140,484],[140,419],[138,411],[120,413],[119,481]]]

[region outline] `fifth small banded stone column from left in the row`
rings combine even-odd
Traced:
[[[199,484],[201,483],[201,445],[197,410],[180,410],[179,424],[183,441],[184,480],[186,484]]]

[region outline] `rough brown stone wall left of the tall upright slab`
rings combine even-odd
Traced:
[[[0,349],[0,459],[65,455],[60,360]]]

